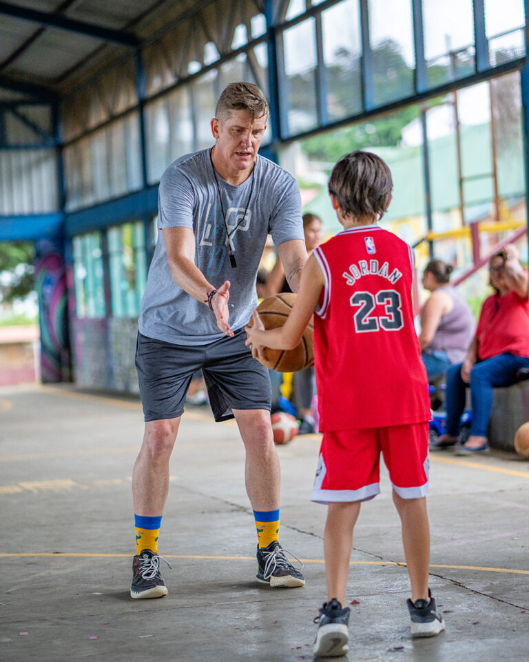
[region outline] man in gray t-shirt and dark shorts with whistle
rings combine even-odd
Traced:
[[[307,259],[295,180],[258,156],[267,117],[268,104],[257,86],[231,83],[211,120],[214,147],[177,159],[160,181],[158,242],[136,350],[145,435],[132,477],[133,598],[167,594],[158,531],[169,457],[198,368],[216,421],[235,417],[245,444],[246,488],[258,530],[257,578],[271,586],[304,585],[278,543],[280,467],[268,371],[245,346],[268,232],[294,291]]]

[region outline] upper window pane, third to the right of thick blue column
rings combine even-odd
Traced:
[[[369,0],[369,41],[375,104],[413,94],[413,20],[410,0]]]

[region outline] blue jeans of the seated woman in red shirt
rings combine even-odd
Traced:
[[[461,379],[461,365],[451,365],[446,372],[446,434],[457,437],[459,419],[465,408],[466,384]],[[492,409],[492,388],[510,386],[518,381],[519,368],[529,368],[529,357],[517,357],[506,352],[479,361],[470,371],[470,400],[472,424],[470,434],[487,436],[488,419]]]

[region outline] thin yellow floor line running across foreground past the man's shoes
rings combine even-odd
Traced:
[[[129,559],[132,554],[91,554],[90,552],[0,552],[0,557],[14,558],[30,556],[68,556],[76,558],[104,558]],[[255,561],[255,556],[210,556],[209,554],[163,554],[164,559],[188,559],[198,561]],[[290,559],[295,561],[296,559]],[[325,563],[324,559],[300,559],[303,563]],[[350,561],[349,565],[395,565],[406,568],[406,563],[397,561]],[[432,563],[430,568],[446,568],[448,570],[477,570],[479,572],[507,572],[508,574],[529,574],[529,570],[515,570],[513,568],[486,568],[479,565],[444,565]]]

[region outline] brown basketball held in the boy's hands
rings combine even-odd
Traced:
[[[257,307],[257,312],[265,329],[275,329],[287,321],[296,296],[293,292],[282,292],[261,301]],[[249,321],[248,326],[253,326],[253,319]],[[307,324],[302,339],[293,350],[271,350],[266,347],[262,353],[264,354],[264,360],[258,360],[269,370],[298,372],[303,368],[310,368],[314,364],[313,319],[311,318]]]

